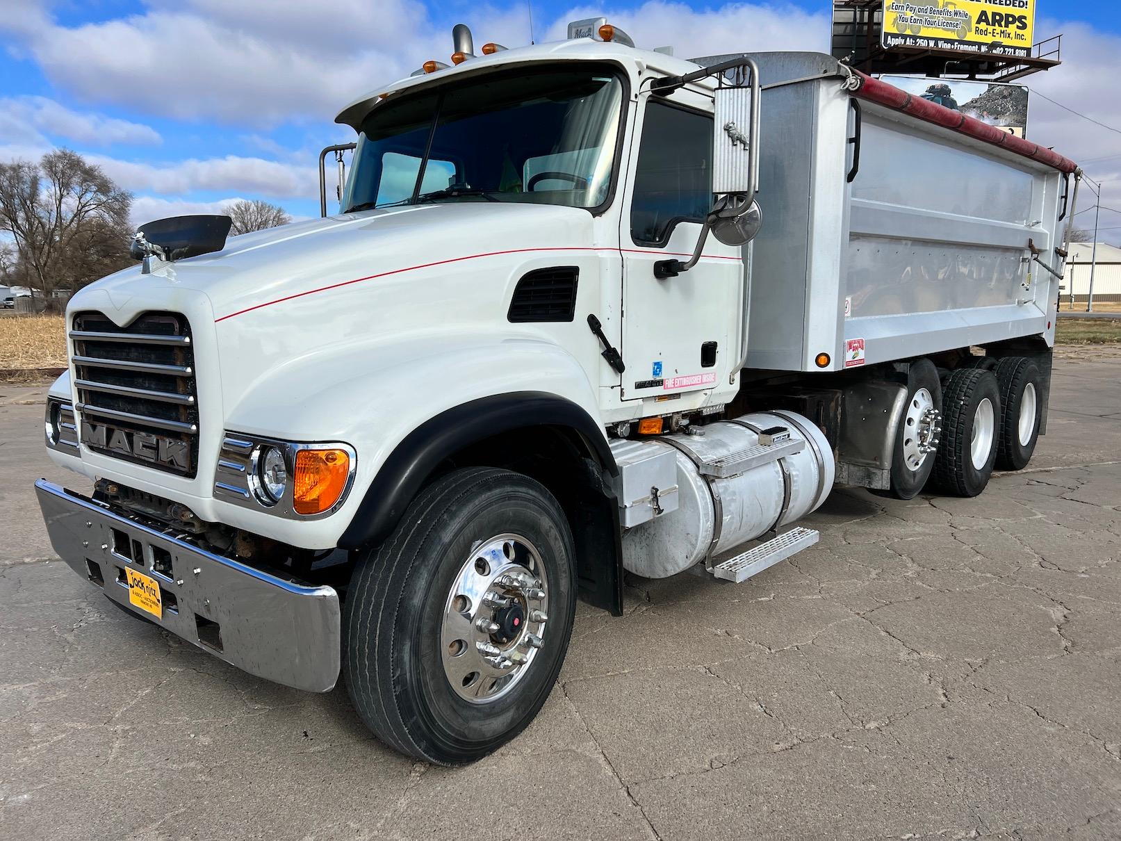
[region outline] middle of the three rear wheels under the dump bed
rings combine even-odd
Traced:
[[[943,391],[942,413],[934,480],[947,493],[975,497],[989,484],[999,449],[997,377],[980,368],[953,371]]]

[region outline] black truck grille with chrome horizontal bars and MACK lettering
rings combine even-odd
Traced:
[[[78,313],[70,336],[82,443],[194,477],[198,403],[187,320],[146,313],[119,327],[101,313]]]

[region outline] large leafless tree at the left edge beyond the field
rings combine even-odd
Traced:
[[[38,164],[0,164],[0,230],[12,239],[9,274],[44,296],[131,262],[132,195],[70,149]]]

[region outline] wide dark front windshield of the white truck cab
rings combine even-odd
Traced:
[[[600,206],[611,188],[622,98],[614,73],[589,65],[519,68],[402,96],[362,123],[343,206]]]

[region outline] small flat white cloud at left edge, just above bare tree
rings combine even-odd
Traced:
[[[0,98],[0,142],[46,142],[61,138],[90,146],[161,142],[150,126],[74,111],[45,96]]]

